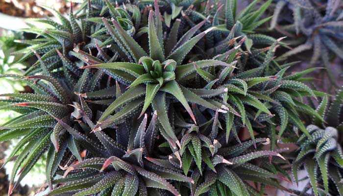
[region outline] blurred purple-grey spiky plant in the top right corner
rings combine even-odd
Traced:
[[[330,58],[337,56],[343,59],[342,50],[342,2],[339,0],[279,0],[274,10],[270,28],[278,26],[281,33],[293,38],[291,44],[294,49],[284,53],[279,59],[299,54],[303,51],[311,52],[310,65],[320,62],[330,70]],[[292,10],[293,18],[282,9]],[[285,13],[285,15],[282,15]],[[332,75],[330,76],[332,77]],[[331,78],[334,81],[334,78]]]

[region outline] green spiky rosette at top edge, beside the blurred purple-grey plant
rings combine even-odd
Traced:
[[[271,45],[275,39],[256,33],[255,30],[260,25],[263,25],[270,17],[262,18],[264,12],[271,3],[271,0],[267,0],[258,9],[256,8],[257,0],[252,1],[247,5],[240,13],[237,13],[237,0],[226,0],[222,2],[220,8],[218,8],[215,15],[213,15],[212,25],[218,27],[223,32],[222,38],[217,37],[218,33],[214,35],[212,39],[216,40],[216,44],[212,49],[214,55],[221,54],[227,50],[227,42],[234,37],[245,37],[244,46],[245,50],[250,52],[252,45]],[[224,17],[224,20],[221,19]],[[221,35],[221,34],[219,34]]]

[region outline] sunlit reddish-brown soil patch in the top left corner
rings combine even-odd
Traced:
[[[24,18],[40,18],[51,16],[51,13],[39,5],[46,5],[61,13],[70,8],[70,3],[65,0],[0,0],[0,12]]]

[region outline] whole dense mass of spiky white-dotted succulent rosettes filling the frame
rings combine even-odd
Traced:
[[[315,195],[342,194],[342,92],[326,112],[330,97],[305,84],[316,69],[275,60],[283,38],[258,31],[271,2],[88,0],[69,17],[46,7],[58,22],[30,20],[37,37],[16,51],[37,62],[0,75],[33,90],[0,95],[20,114],[0,126],[0,141],[20,138],[8,195],[43,155],[49,196],[296,194],[280,182],[301,167]],[[293,158],[278,147],[297,139]]]

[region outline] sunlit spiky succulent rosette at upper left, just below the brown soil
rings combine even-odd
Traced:
[[[23,40],[22,42],[29,45],[29,47],[17,50],[13,52],[13,54],[23,54],[23,57],[18,61],[23,62],[29,57],[34,56],[35,52],[37,52],[42,54],[41,58],[48,66],[47,68],[54,70],[60,68],[59,66],[62,65],[62,59],[59,57],[56,49],[61,51],[64,55],[69,56],[69,51],[74,47],[88,48],[87,44],[90,42],[88,35],[90,35],[94,29],[91,25],[92,23],[88,22],[87,19],[93,15],[98,15],[98,13],[93,11],[89,4],[88,8],[82,10],[83,13],[76,17],[73,14],[73,6],[71,6],[68,19],[56,10],[44,6],[43,8],[50,11],[58,22],[55,22],[50,18],[27,20],[29,28],[23,29],[23,31],[37,34],[39,37],[32,40]],[[78,25],[79,23],[81,26]],[[37,25],[39,25],[39,27]],[[25,74],[31,75],[40,73],[42,71],[42,66],[37,66],[39,64],[40,61],[38,60],[34,64],[36,66],[31,66]],[[67,72],[68,69],[72,68],[64,67],[63,71]],[[75,75],[72,74],[69,77],[73,78]]]

